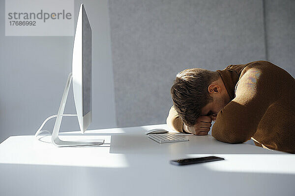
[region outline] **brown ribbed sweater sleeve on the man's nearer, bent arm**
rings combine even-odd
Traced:
[[[273,72],[266,65],[253,64],[245,68],[236,85],[236,98],[218,114],[212,136],[226,143],[243,143],[256,133],[258,124],[274,99],[276,84]]]

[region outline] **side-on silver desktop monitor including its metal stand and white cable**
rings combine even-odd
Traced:
[[[45,120],[43,125],[51,118],[57,117],[52,132],[52,143],[57,147],[72,147],[72,146],[90,146],[101,145],[104,140],[99,141],[62,141],[59,139],[59,128],[62,117],[77,116],[82,133],[88,128],[92,121],[92,44],[91,44],[91,27],[83,4],[80,6],[72,60],[72,73],[69,74],[57,115],[53,115]],[[77,114],[63,114],[66,99],[68,96],[70,84],[73,78],[73,91]]]

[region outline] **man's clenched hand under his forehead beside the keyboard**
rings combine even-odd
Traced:
[[[194,126],[187,126],[183,124],[183,130],[194,135],[208,135],[212,119],[209,116],[200,116]]]

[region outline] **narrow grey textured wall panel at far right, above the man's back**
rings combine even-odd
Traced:
[[[295,77],[295,0],[266,0],[267,59]]]

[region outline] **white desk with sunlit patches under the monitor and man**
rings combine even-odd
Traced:
[[[50,137],[12,136],[0,144],[0,196],[295,196],[295,155],[210,135],[158,144],[144,132],[165,124],[61,134],[105,139],[103,146],[55,147]],[[40,136],[41,137],[41,136]],[[39,137],[39,138],[40,138]],[[61,137],[61,138],[62,138]],[[206,155],[217,161],[174,166]]]

